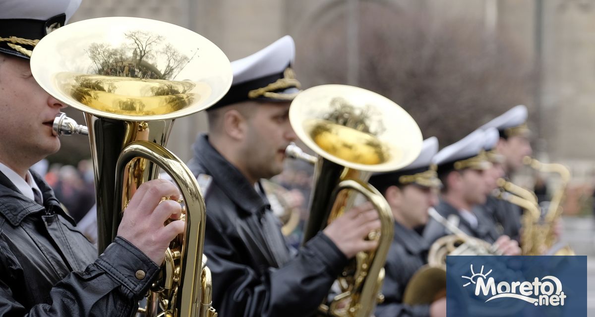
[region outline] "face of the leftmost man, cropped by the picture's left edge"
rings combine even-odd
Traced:
[[[29,60],[0,54],[0,150],[40,158],[57,152],[52,123],[61,108],[33,79]]]

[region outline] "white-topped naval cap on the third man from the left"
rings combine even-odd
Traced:
[[[432,158],[437,152],[437,137],[428,137],[424,140],[421,152],[415,161],[396,171],[374,174],[370,177],[369,183],[381,191],[392,185],[410,183],[425,187],[440,187],[440,180],[435,167],[432,166]]]

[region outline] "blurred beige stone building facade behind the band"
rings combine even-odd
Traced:
[[[233,60],[284,34],[292,35],[298,47],[306,45],[300,39],[307,37],[313,26],[332,18],[334,12],[355,16],[361,5],[371,2],[387,10],[430,12],[434,18],[428,24],[445,17],[483,21],[487,41],[508,33],[512,45],[537,72],[527,102],[536,155],[545,161],[563,162],[571,167],[575,179],[591,182],[595,175],[595,147],[590,146],[595,133],[593,0],[87,0],[71,21],[118,15],[167,21],[202,34]],[[347,40],[344,67],[350,84],[358,84],[358,72],[352,71],[359,62],[357,36],[353,36],[358,32],[356,20],[347,18],[349,23],[343,26]],[[299,68],[300,62],[308,61],[298,56],[297,62]],[[205,115],[181,118],[174,124],[168,147],[187,160],[192,155],[190,145],[205,130]]]

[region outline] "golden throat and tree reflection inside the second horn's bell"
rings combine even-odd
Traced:
[[[375,113],[371,106],[356,108],[340,97],[331,100],[330,110],[322,115],[322,120],[314,120],[310,132],[321,149],[358,164],[375,165],[390,160],[386,145],[375,137],[386,130],[378,120],[380,113]]]

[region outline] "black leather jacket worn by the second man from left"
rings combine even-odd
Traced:
[[[213,307],[221,317],[308,316],[327,296],[347,259],[323,233],[289,258],[272,212],[206,136],[198,137],[190,170],[206,200],[204,253],[212,272]],[[208,176],[207,176],[208,175]]]

